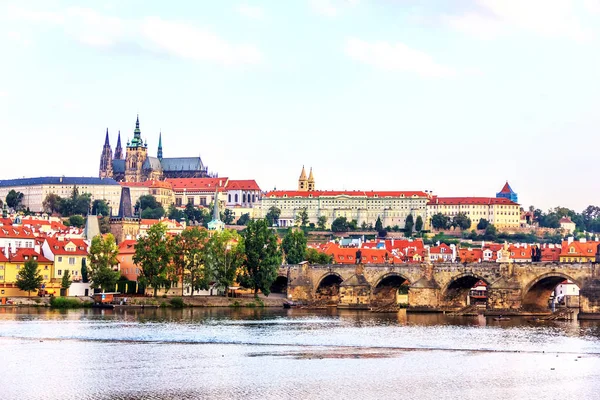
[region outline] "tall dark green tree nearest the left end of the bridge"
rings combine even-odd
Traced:
[[[258,290],[268,296],[281,265],[277,235],[269,229],[267,220],[263,219],[248,222],[242,237],[246,258],[239,278],[240,283],[253,288],[255,296],[258,295]]]

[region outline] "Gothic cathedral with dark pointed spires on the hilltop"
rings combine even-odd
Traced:
[[[106,139],[100,156],[100,178],[113,178],[119,182],[144,182],[167,178],[207,178],[213,175],[202,164],[200,157],[163,158],[162,133],[158,136],[156,157],[148,156],[148,143],[142,140],[140,118],[135,121],[133,139],[127,142],[125,157],[121,148],[121,131],[113,157],[112,148]]]

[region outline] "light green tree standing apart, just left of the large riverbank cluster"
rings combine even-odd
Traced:
[[[114,269],[119,263],[118,254],[119,249],[112,234],[109,233],[106,237],[94,236],[90,245],[90,270],[88,271],[93,288],[102,289],[103,292],[114,289],[120,276],[119,271]]]

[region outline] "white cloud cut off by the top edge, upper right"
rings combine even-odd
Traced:
[[[590,1],[590,0],[588,0]],[[588,37],[575,15],[573,4],[564,0],[474,0],[472,10],[446,15],[443,21],[452,28],[483,39],[514,32],[533,32],[543,37]]]

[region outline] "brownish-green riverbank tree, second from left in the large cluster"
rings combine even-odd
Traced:
[[[205,266],[208,240],[207,230],[193,227],[184,230],[169,241],[173,264],[183,282],[182,296],[185,284],[191,288],[190,296],[193,296],[197,290],[206,290],[209,287],[211,272]]]

